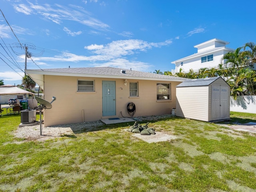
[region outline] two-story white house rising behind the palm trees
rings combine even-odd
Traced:
[[[188,72],[190,69],[198,72],[200,68],[218,68],[224,54],[234,51],[234,49],[226,48],[227,44],[229,42],[215,38],[194,46],[197,48],[197,53],[171,62],[176,66],[172,73],[179,72],[180,69],[183,72]]]

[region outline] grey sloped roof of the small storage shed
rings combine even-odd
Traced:
[[[178,84],[176,87],[196,87],[196,86],[208,86],[218,78],[222,77],[209,77],[209,78],[201,78],[201,79],[189,79],[181,84]],[[223,79],[222,79],[223,80]]]

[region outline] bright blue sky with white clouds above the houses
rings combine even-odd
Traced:
[[[231,0],[0,0],[0,79],[21,84],[27,69],[111,66],[154,72],[218,38],[256,43],[256,2]],[[16,35],[16,38],[14,36]],[[19,42],[18,42],[19,41]]]

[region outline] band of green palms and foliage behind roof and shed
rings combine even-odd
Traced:
[[[256,70],[252,69],[256,63],[256,44],[248,42],[234,52],[226,53],[222,61],[224,63],[221,62],[218,68],[200,68],[198,72],[190,69],[188,73],[180,68],[175,74],[168,71],[164,74],[190,79],[222,76],[230,85],[230,94],[234,98],[239,95],[256,95]],[[160,70],[154,73],[163,74]]]

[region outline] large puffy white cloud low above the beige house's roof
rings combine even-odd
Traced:
[[[52,65],[56,62],[82,62],[86,66],[112,66],[119,68],[132,68],[133,70],[145,71],[151,66],[148,63],[136,61],[135,58],[128,59],[128,56],[135,53],[145,52],[152,48],[160,48],[172,43],[172,40],[164,42],[146,42],[143,40],[118,40],[109,44],[91,44],[84,48],[91,52],[91,56],[82,56],[62,52],[54,57],[34,57],[37,64]],[[85,63],[86,62],[86,63]]]

